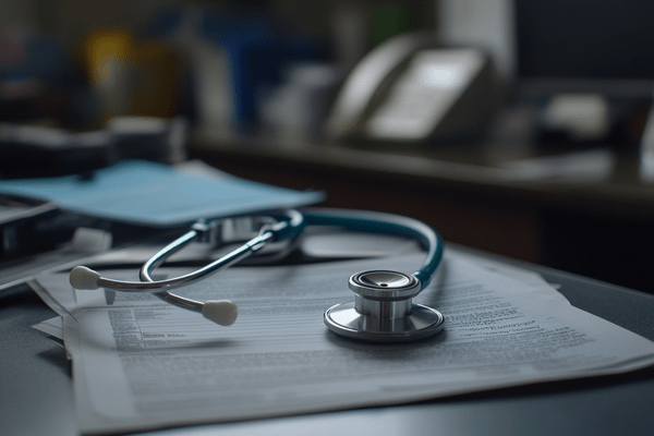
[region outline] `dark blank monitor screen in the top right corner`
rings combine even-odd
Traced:
[[[524,93],[650,99],[654,4],[513,1],[518,85]]]

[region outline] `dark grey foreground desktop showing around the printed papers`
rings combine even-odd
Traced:
[[[448,246],[447,250],[463,250]],[[485,254],[479,254],[485,256]],[[654,296],[522,264],[577,307],[654,340]],[[29,291],[0,300],[0,434],[75,435],[65,353],[31,325],[55,314]],[[373,408],[178,428],[148,435],[640,435],[654,428],[654,371]]]

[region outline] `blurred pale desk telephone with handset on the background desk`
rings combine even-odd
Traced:
[[[396,36],[346,78],[327,118],[327,135],[402,143],[471,138],[492,118],[494,77],[479,50],[437,48],[432,34]]]

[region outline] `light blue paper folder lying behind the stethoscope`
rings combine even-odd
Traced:
[[[64,210],[150,227],[300,207],[325,197],[322,192],[287,190],[238,178],[198,178],[141,160],[98,170],[89,180],[77,175],[3,180],[0,193],[53,201]]]

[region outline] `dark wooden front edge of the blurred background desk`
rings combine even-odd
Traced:
[[[190,149],[193,156],[217,164],[218,168],[223,159],[241,166],[251,165],[253,171],[266,164],[275,164],[301,172],[360,173],[360,178],[386,183],[429,185],[460,192],[474,189],[525,205],[583,206],[592,210],[654,217],[654,184],[611,179],[598,182],[525,180],[506,168],[440,159],[438,152],[424,148],[424,152],[413,148],[401,153],[393,148],[375,150],[332,143],[225,136],[198,131],[191,136]],[[633,159],[635,157],[618,156],[619,161],[628,160],[622,166],[629,168],[623,171],[634,170]]]

